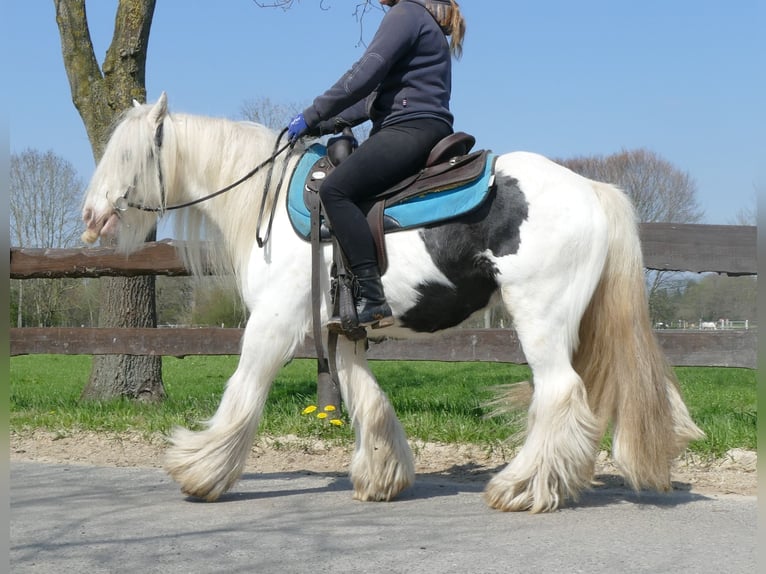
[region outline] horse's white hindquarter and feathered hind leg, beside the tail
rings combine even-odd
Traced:
[[[495,264],[534,388],[525,442],[485,497],[501,510],[551,511],[590,484],[603,430],[572,359],[609,228],[588,180],[523,153],[501,156],[496,167],[501,188],[518,182],[528,205],[518,251]]]

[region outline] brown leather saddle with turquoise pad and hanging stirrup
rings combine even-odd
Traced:
[[[388,267],[385,233],[444,221],[481,205],[494,188],[495,156],[482,150],[470,153],[475,138],[464,132],[451,134],[431,150],[423,169],[400,181],[361,206],[367,213],[377,249],[381,275]],[[317,353],[317,400],[321,407],[340,410],[340,386],[336,347],[342,334],[352,341],[367,342],[354,306],[354,279],[346,269],[345,256],[322,217],[319,187],[327,175],[353,152],[356,140],[350,128],[331,138],[327,148],[314,144],[299,160],[288,185],[287,212],[293,229],[311,241],[311,306]],[[316,159],[312,159],[316,158]],[[298,187],[300,186],[300,188]],[[456,197],[458,201],[455,201]],[[396,211],[399,210],[399,211]],[[333,241],[331,299],[340,329],[330,329],[327,349],[322,345],[320,309],[321,243]],[[329,354],[329,356],[328,356]]]

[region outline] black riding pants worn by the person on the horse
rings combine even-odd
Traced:
[[[383,127],[322,183],[319,197],[353,271],[377,266],[375,243],[359,204],[417,173],[434,145],[451,133],[447,123],[432,118]]]

